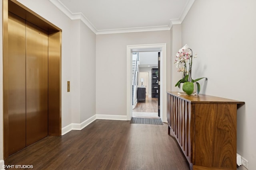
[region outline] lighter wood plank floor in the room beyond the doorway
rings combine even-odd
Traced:
[[[132,111],[158,112],[158,98],[148,98],[148,96],[146,96],[146,102],[138,102]]]

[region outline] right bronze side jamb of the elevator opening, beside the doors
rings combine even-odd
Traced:
[[[48,33],[48,135],[61,135],[61,32]]]

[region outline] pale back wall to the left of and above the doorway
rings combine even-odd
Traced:
[[[156,43],[170,57],[170,31],[96,35],[97,114],[126,115],[126,46]]]

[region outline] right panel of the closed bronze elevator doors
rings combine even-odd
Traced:
[[[26,22],[26,145],[48,135],[48,33]]]

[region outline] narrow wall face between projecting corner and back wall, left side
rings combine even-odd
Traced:
[[[96,35],[80,21],[80,123],[96,114]]]

